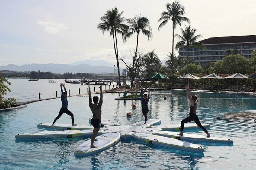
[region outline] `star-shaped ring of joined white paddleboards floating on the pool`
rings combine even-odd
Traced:
[[[89,119],[89,121],[91,118]],[[135,140],[156,145],[160,147],[171,148],[186,152],[203,153],[204,148],[198,143],[226,143],[233,144],[229,138],[209,137],[203,135],[183,133],[179,136],[180,125],[160,125],[161,119],[149,119],[140,121],[132,125],[119,125],[110,120],[103,120],[104,128],[100,128],[97,140],[94,141],[96,148],[91,148],[91,140],[87,140],[80,144],[74,151],[75,156],[88,156],[106,150],[116,144],[120,139],[133,138]],[[203,124],[205,128],[209,128],[209,124]],[[195,123],[184,124],[185,130],[199,129]],[[37,140],[37,139],[56,139],[56,138],[91,138],[93,134],[92,125],[76,125],[56,123],[40,123],[38,128],[49,128],[51,130],[60,131],[40,131],[35,133],[24,133],[15,136],[17,140]],[[175,132],[171,132],[175,131]],[[191,143],[190,143],[191,142]],[[196,142],[197,144],[193,144]]]

